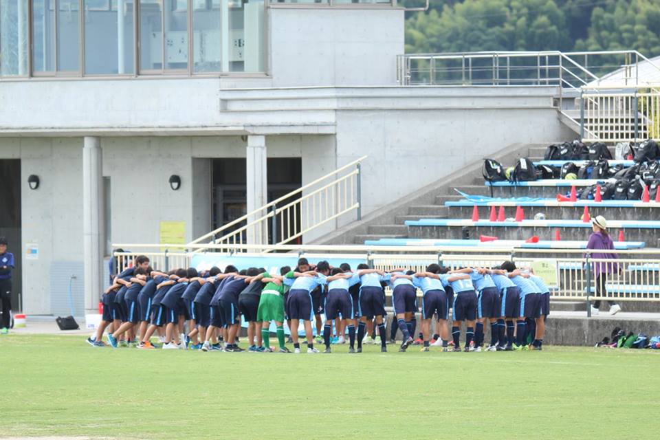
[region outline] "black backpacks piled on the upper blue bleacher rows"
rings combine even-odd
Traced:
[[[654,140],[639,144],[617,144],[616,156],[632,159],[635,164],[610,166],[612,155],[607,146],[596,142],[586,146],[580,141],[553,144],[547,147],[546,160],[584,160],[578,166],[566,162],[563,166],[534,166],[527,157],[518,159],[515,166],[505,168],[494,159],[485,159],[482,175],[486,181],[534,181],[537,179],[596,179],[599,180],[603,200],[640,200],[644,188],[655,199],[660,186],[660,147]],[[595,198],[596,185],[584,188],[578,197],[582,200]]]

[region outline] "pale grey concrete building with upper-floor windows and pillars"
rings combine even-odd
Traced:
[[[96,309],[110,243],[159,243],[164,222],[191,241],[362,155],[368,214],[575,137],[557,87],[401,87],[403,53],[395,1],[1,0],[0,234],[23,311],[68,314],[69,292]]]

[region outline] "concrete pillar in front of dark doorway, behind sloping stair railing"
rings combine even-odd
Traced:
[[[266,166],[266,140],[265,136],[249,135],[248,136],[248,151],[247,160],[245,161],[248,167],[246,173],[246,184],[248,190],[248,212],[252,212],[261,206],[264,206],[268,201],[267,192],[267,166]],[[258,219],[266,212],[259,212],[248,217],[248,223]],[[266,244],[268,243],[268,221],[263,221],[253,228],[248,230],[248,243],[249,244]]]

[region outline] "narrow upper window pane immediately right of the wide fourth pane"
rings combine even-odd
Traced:
[[[162,70],[162,68],[162,0],[140,0],[140,70]]]

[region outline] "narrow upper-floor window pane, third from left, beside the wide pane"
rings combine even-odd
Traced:
[[[57,70],[78,71],[80,66],[80,10],[78,0],[59,0],[57,14]]]

